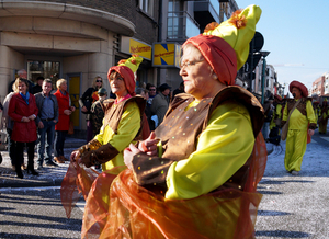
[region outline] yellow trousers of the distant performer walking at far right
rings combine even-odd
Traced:
[[[286,137],[284,166],[287,171],[300,171],[306,151],[307,130],[290,129]]]

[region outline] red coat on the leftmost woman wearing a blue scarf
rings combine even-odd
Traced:
[[[13,120],[14,126],[12,129],[11,139],[14,141],[30,143],[37,139],[36,124],[34,121],[22,122],[23,116],[37,115],[35,98],[30,94],[29,105],[20,93],[12,95],[9,102],[8,115]]]

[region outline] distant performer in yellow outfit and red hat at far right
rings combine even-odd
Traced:
[[[281,125],[283,126],[291,113],[288,122],[288,130],[286,137],[284,166],[287,172],[293,175],[298,175],[302,167],[303,156],[306,151],[307,140],[316,129],[316,118],[311,105],[311,98],[307,98],[308,90],[299,81],[292,81],[290,83],[290,92],[294,99],[287,99]],[[307,139],[309,137],[309,139]]]

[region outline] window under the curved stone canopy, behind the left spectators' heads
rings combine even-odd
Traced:
[[[59,61],[27,61],[27,78],[36,82],[37,77],[48,78],[53,81],[53,89],[56,89],[56,81],[59,79],[60,62]]]

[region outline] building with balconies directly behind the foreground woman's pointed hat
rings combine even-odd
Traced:
[[[188,38],[203,33],[208,23],[219,23],[219,14],[224,15],[223,20],[225,21],[227,14],[231,14],[235,11],[234,8],[237,8],[235,1],[220,2],[222,1],[218,0],[161,1],[159,9],[161,14],[159,16],[160,29],[158,44],[162,46],[163,53],[154,54],[154,61],[156,61],[156,58],[161,54],[163,56],[161,61],[159,60],[159,64],[154,64],[155,67],[159,68],[158,86],[166,82],[171,86],[172,89],[178,88],[182,82],[182,78],[179,76],[180,69],[178,62],[180,60],[179,52],[181,45]],[[222,13],[220,8],[223,10]],[[170,47],[171,50],[169,49]],[[156,50],[156,47],[154,47],[154,50]],[[170,60],[171,64],[168,64]]]

